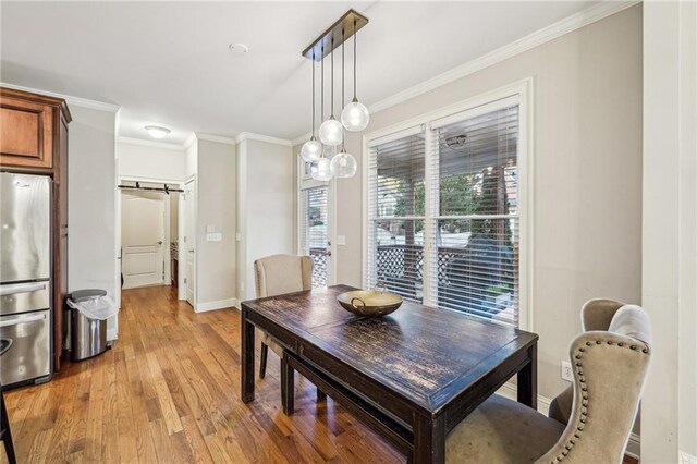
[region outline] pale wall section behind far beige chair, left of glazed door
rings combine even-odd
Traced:
[[[286,145],[247,139],[237,149],[237,294],[248,300],[256,294],[254,261],[295,252],[295,168]]]

